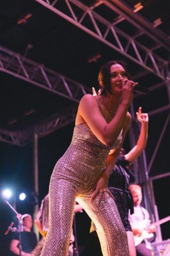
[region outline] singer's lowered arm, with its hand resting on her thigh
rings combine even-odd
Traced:
[[[124,143],[125,134],[127,133],[127,130],[129,129],[130,122],[131,122],[131,115],[129,113],[127,113],[127,117],[126,117],[125,124],[124,124],[124,129],[123,129],[123,132],[122,132],[122,143],[121,143],[119,148],[113,150],[113,152],[111,152],[111,154],[108,155],[108,157],[106,159],[106,170],[101,174],[101,177],[97,181],[96,189],[94,190],[94,193],[92,195],[92,201],[94,200],[94,198],[96,197],[96,195],[99,192],[102,193],[103,191],[107,191],[107,193],[111,197],[113,197],[110,190],[108,189],[108,179],[110,177],[111,170],[113,170],[113,167],[114,167],[115,162],[117,160],[117,156],[120,152],[120,149],[122,148],[122,144]],[[104,195],[104,196],[106,196],[106,195]],[[101,194],[99,196],[99,202],[101,201],[102,197],[103,197],[103,195]],[[105,199],[106,198],[104,198],[104,200]]]

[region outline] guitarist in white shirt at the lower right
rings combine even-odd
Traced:
[[[144,230],[147,230],[148,234],[152,234],[155,232],[156,228],[154,225],[150,225],[149,213],[141,206],[141,186],[132,184],[129,186],[129,190],[131,191],[134,202],[134,214],[129,215],[129,221],[131,223],[134,239],[136,240],[137,238],[143,236]],[[145,223],[145,227],[141,227],[141,223]],[[136,245],[136,252],[137,256],[151,256],[152,253],[150,242],[146,238],[141,238],[141,242]]]

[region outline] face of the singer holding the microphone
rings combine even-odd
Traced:
[[[122,93],[123,81],[127,79],[127,73],[120,64],[110,67],[111,90],[113,93]]]

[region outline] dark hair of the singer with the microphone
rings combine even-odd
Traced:
[[[125,67],[122,61],[108,61],[106,62],[99,71],[98,81],[101,86],[101,94],[106,94],[106,92],[111,92],[111,76],[110,76],[110,68],[112,65],[119,64],[124,67],[125,72],[127,73],[127,78],[130,79],[129,73],[127,72],[127,68]]]

